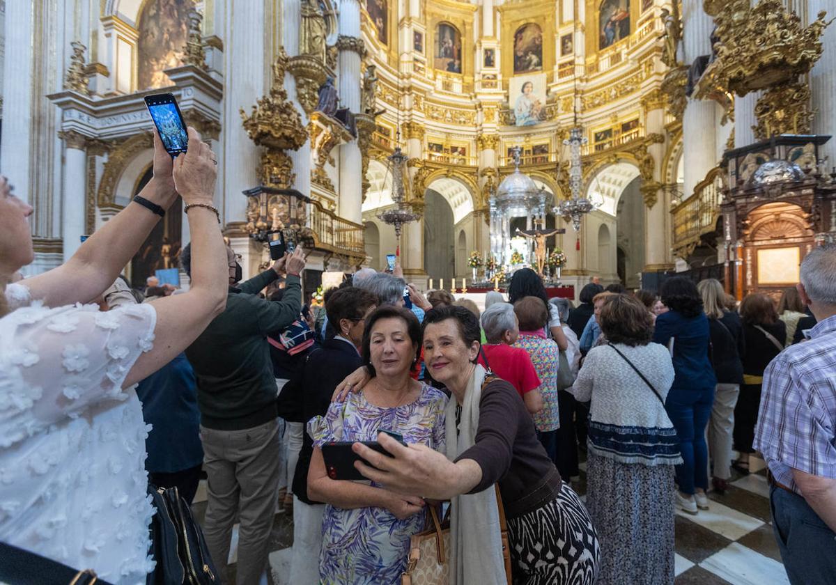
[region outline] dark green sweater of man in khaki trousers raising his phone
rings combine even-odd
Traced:
[[[299,277],[288,275],[281,301],[259,298],[257,293],[274,280],[271,269],[230,287],[227,309],[186,349],[206,428],[251,429],[277,417],[267,335],[299,318],[302,287]]]

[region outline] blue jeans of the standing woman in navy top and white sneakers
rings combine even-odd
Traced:
[[[670,422],[680,441],[682,465],[676,465],[676,483],[683,494],[693,494],[695,487],[708,489],[708,446],[706,425],[711,418],[714,387],[706,389],[670,389],[665,400]]]

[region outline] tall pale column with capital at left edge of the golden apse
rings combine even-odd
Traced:
[[[339,99],[343,107],[355,114],[360,112],[360,7],[357,0],[344,0],[339,6]],[[363,157],[357,140],[339,147],[339,216],[349,221],[362,222],[363,177],[360,169]]]

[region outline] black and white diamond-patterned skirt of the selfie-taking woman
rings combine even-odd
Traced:
[[[514,585],[592,585],[600,547],[584,502],[567,484],[545,506],[508,520]]]

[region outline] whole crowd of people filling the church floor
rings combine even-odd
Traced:
[[[301,247],[242,282],[216,175],[195,130],[173,161],[155,135],[141,197],[22,282],[32,209],[0,179],[0,542],[33,575],[45,557],[161,578],[149,481],[191,503],[205,474],[215,582],[236,523],[234,581],[263,582],[283,510],[293,583],[398,583],[434,515],[451,583],[672,583],[675,510],[709,510],[760,452],[790,581],[832,582],[836,247],[778,303],[670,277],[658,295],[589,282],[574,306],[523,268],[480,312],[364,268],[318,314]],[[191,286],[143,300],[120,271],[177,196]],[[364,481],[327,464],[341,441]]]

